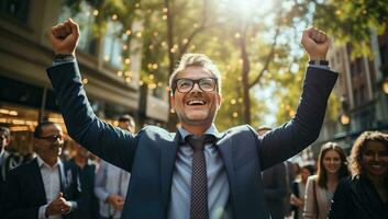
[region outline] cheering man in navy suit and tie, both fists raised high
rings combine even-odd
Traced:
[[[49,31],[56,56],[48,68],[73,139],[101,159],[131,172],[122,218],[268,218],[260,171],[280,163],[319,136],[337,73],[330,71],[326,35],[304,31],[310,55],[295,118],[263,138],[251,126],[219,132],[221,78],[204,55],[185,55],[170,77],[177,132],[147,126],[129,134],[100,120],[87,100],[75,60],[79,37],[73,20]],[[318,66],[317,66],[318,65]]]

